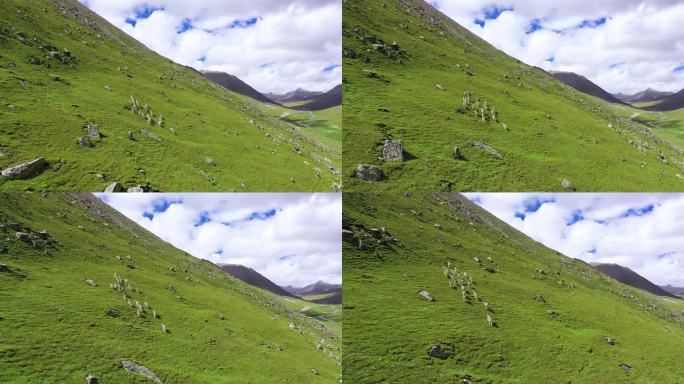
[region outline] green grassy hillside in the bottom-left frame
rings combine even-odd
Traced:
[[[339,380],[339,332],[91,195],[4,194],[0,224],[2,383],[151,382],[121,360],[164,383]]]

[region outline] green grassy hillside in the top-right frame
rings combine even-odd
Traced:
[[[581,191],[684,190],[682,153],[649,128],[424,1],[344,2],[343,49],[348,191],[558,191],[563,178]],[[403,163],[379,160],[387,139],[403,140]],[[384,179],[356,177],[360,164]]]

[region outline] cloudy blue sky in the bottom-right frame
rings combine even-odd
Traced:
[[[656,284],[684,286],[684,194],[466,196],[566,256],[620,264]]]

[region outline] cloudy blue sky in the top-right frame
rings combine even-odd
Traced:
[[[438,0],[433,6],[527,64],[609,92],[684,88],[684,2]],[[619,65],[615,65],[619,63]]]

